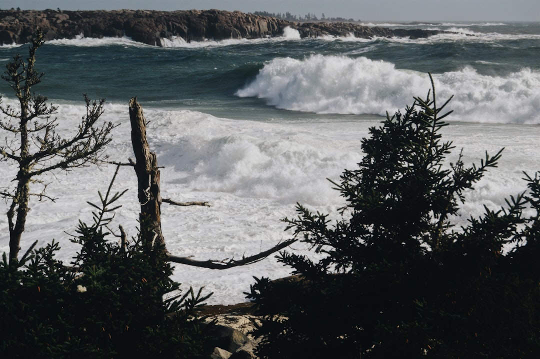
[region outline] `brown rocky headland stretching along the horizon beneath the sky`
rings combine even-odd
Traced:
[[[425,38],[441,32],[389,29],[355,23],[298,23],[222,10],[0,10],[0,45],[30,42],[36,27],[46,33],[46,40],[127,36],[154,46],[163,46],[164,39],[173,38],[191,42],[277,37],[282,36],[287,27],[298,30],[301,38],[350,35],[359,38]]]

